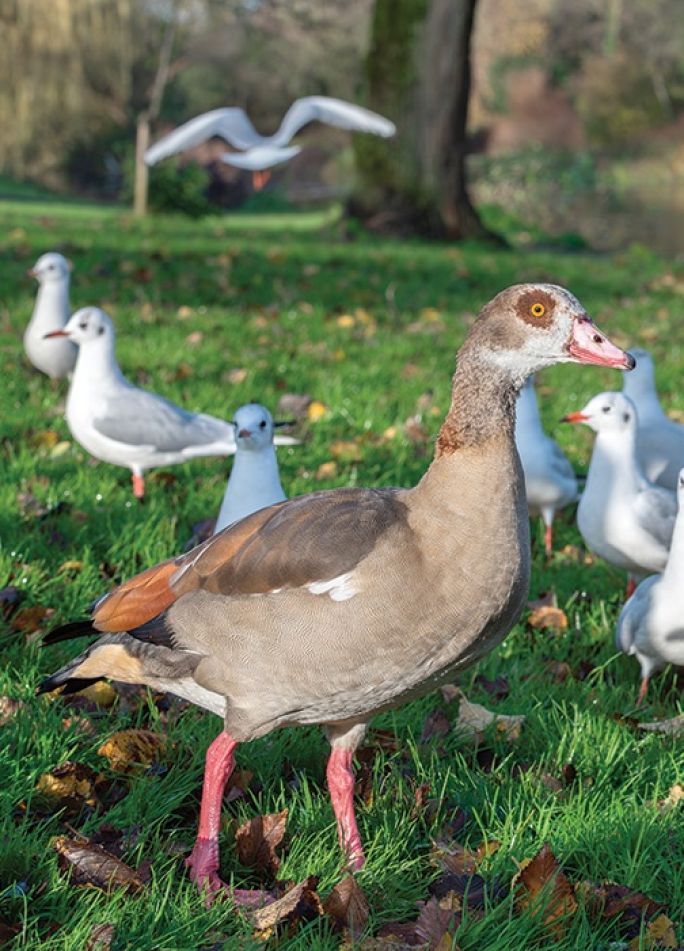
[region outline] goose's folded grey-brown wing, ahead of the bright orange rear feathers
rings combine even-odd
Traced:
[[[406,523],[394,489],[316,492],[262,509],[179,559],[176,597],[259,594],[338,578],[389,528]]]

